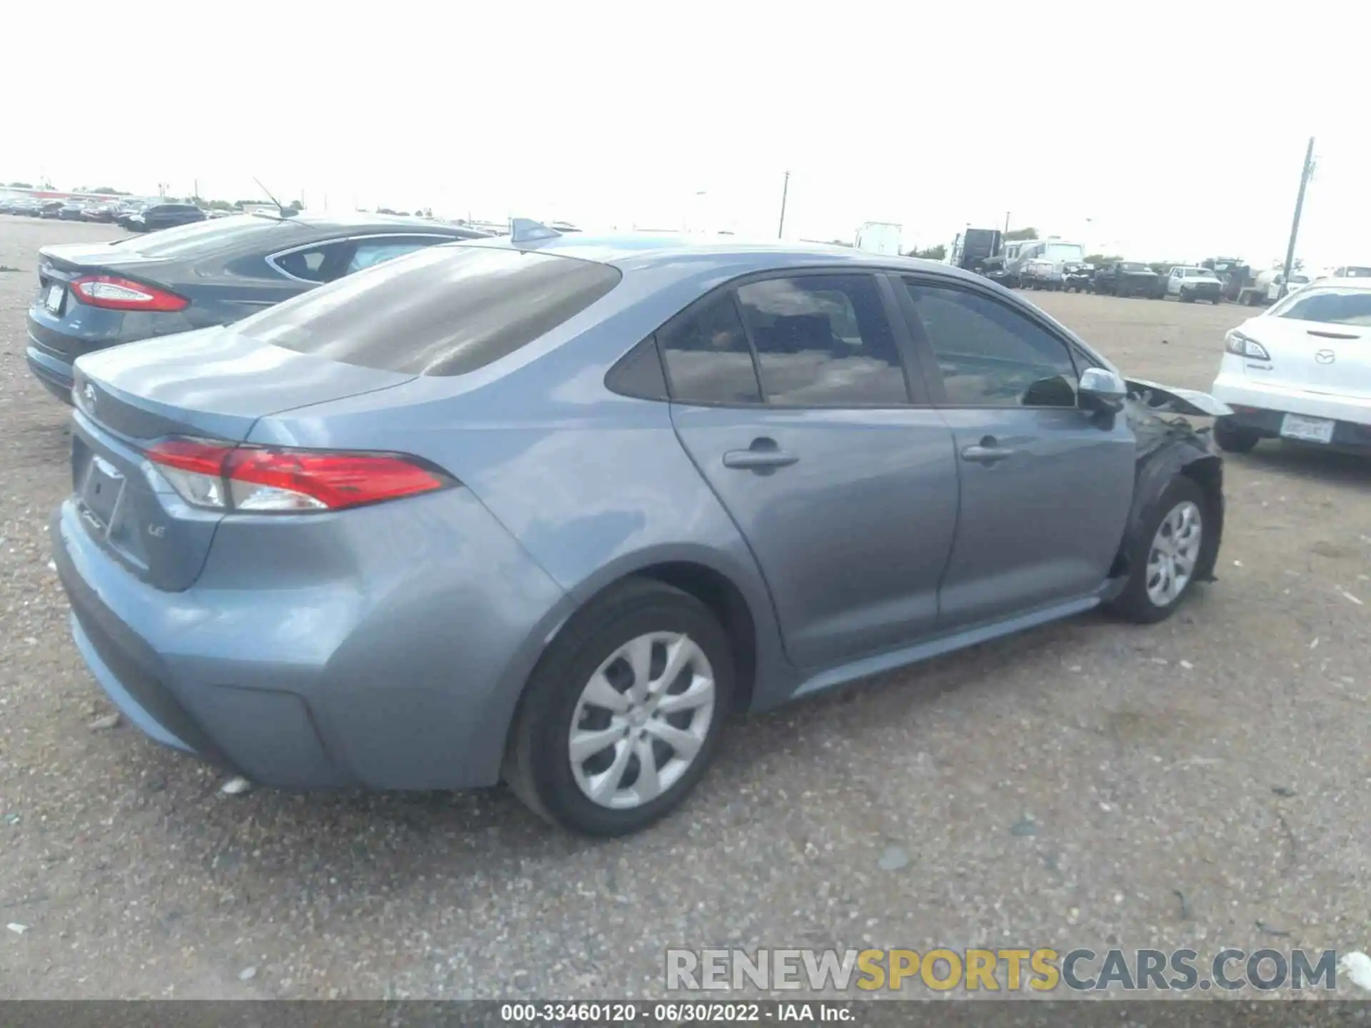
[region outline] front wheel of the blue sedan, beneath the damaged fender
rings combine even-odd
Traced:
[[[1153,625],[1171,617],[1194,585],[1204,556],[1208,498],[1183,474],[1153,502],[1128,554],[1128,581],[1106,607],[1124,621]]]

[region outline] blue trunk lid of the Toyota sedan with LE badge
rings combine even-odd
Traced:
[[[165,591],[204,567],[215,510],[185,503],[147,456],[167,436],[241,443],[254,424],[326,400],[393,388],[414,376],[343,365],[250,340],[232,328],[133,343],[75,365],[73,500],[119,563]]]

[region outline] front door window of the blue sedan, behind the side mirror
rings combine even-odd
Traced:
[[[953,407],[1071,407],[1076,369],[1061,340],[976,293],[908,282]]]

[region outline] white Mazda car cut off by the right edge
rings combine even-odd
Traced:
[[[1371,452],[1371,278],[1324,278],[1224,337],[1211,393],[1224,450],[1294,439]]]

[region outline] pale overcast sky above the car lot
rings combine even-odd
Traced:
[[[0,33],[5,181],[775,234],[788,170],[790,237],[1008,211],[1265,266],[1316,136],[1300,254],[1371,263],[1371,5],[122,0]]]

